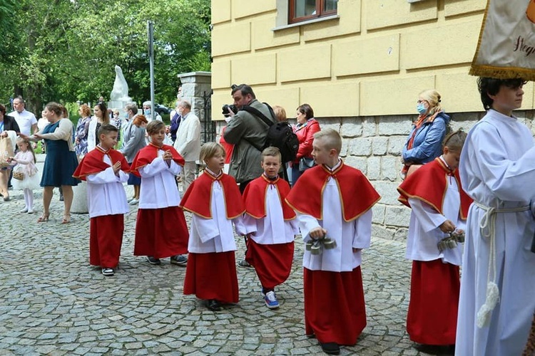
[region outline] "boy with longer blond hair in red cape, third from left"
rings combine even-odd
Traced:
[[[223,146],[205,143],[200,160],[206,168],[180,201],[183,209],[193,213],[184,294],[195,294],[206,300],[208,309],[220,310],[221,303],[239,299],[233,224],[238,234],[245,234],[241,223],[245,209],[236,181],[223,173]]]

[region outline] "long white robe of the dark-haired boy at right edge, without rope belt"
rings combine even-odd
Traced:
[[[529,206],[535,197],[535,147],[530,130],[515,117],[489,110],[470,130],[459,167],[474,199],[462,260],[456,355],[521,355],[535,310],[535,253],[530,251],[532,211],[496,213],[496,284],[499,303],[490,325],[477,327],[489,272],[489,238],[479,227],[486,210]],[[489,224],[491,222],[489,221]]]

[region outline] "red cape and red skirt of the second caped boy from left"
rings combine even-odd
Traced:
[[[158,157],[159,150],[170,151],[173,161],[180,166],[184,165],[183,157],[173,146],[158,147],[151,142],[143,147],[133,159],[131,173],[141,177],[138,169],[153,162]],[[141,189],[143,189],[143,182]],[[183,253],[188,253],[188,225],[182,209],[178,206],[138,209],[134,256],[165,258]]]

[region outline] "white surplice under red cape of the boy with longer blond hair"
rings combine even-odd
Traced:
[[[241,222],[243,216],[232,220],[227,219],[225,196],[217,180],[214,180],[212,184],[211,194],[212,219],[203,218],[195,213],[191,216],[190,240],[188,241],[188,252],[190,253],[236,251],[233,223],[238,234],[245,234]]]

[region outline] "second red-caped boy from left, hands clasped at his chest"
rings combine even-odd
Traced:
[[[132,172],[141,177],[138,218],[136,220],[135,256],[147,256],[148,263],[159,265],[160,258],[185,265],[188,251],[188,226],[178,207],[180,194],[175,176],[184,159],[173,146],[163,145],[165,124],[154,120],[147,125],[151,143],[133,159]]]

